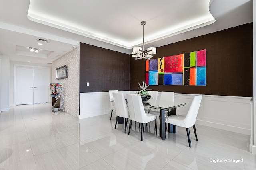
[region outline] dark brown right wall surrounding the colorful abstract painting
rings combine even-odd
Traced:
[[[252,23],[157,48],[154,59],[206,49],[206,86],[149,86],[185,94],[253,96]],[[130,90],[145,81],[145,60],[130,57]]]

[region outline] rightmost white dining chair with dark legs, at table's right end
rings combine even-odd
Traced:
[[[180,126],[180,127],[185,127],[187,130],[187,136],[188,136],[188,145],[191,148],[191,140],[190,140],[190,131],[189,128],[193,126],[194,129],[194,133],[196,136],[196,141],[197,139],[197,135],[196,135],[196,117],[198,114],[198,110],[201,104],[201,100],[202,100],[202,95],[198,95],[195,96],[192,104],[188,110],[188,113],[186,115],[186,117],[182,116],[182,115],[170,115],[169,117],[165,118],[165,127],[167,127],[167,123],[174,125],[174,129],[176,128],[176,126]],[[166,133],[167,129],[165,128],[165,133]]]

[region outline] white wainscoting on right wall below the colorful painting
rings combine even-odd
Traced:
[[[195,94],[175,94],[174,101],[186,102],[177,109],[186,115]],[[249,97],[203,95],[196,123],[250,135]]]

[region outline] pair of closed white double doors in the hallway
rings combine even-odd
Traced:
[[[50,69],[16,67],[16,105],[49,102]]]

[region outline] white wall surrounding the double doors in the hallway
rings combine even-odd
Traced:
[[[14,65],[23,65],[23,66],[34,66],[34,67],[49,67],[50,68],[50,80],[52,79],[52,64],[38,64],[38,63],[29,63],[29,62],[19,62],[19,61],[10,61],[10,106],[14,106]],[[50,85],[49,85],[50,86]],[[50,95],[50,93],[49,93]]]

